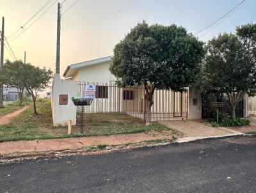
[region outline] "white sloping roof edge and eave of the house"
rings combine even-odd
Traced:
[[[63,77],[65,77],[65,78],[72,77],[72,75],[74,75],[74,73],[76,73],[76,71],[79,68],[83,68],[83,67],[86,67],[86,66],[97,65],[99,63],[104,63],[104,62],[107,62],[107,61],[111,61],[112,57],[113,56],[107,56],[107,57],[104,57],[104,58],[98,58],[98,59],[83,61],[81,63],[76,63],[76,64],[69,65],[69,66],[67,66],[67,68],[66,68],[66,70],[63,74]]]

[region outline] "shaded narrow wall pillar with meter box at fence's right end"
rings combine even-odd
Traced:
[[[202,94],[200,89],[189,87],[188,89],[188,120],[202,119]]]

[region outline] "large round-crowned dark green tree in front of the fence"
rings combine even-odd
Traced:
[[[148,26],[143,21],[115,46],[109,70],[119,86],[145,87],[147,125],[155,89],[182,91],[195,81],[198,64],[204,56],[203,44],[184,27]]]

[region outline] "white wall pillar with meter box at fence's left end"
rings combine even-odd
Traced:
[[[64,126],[68,120],[72,120],[72,125],[76,124],[76,106],[72,102],[72,97],[77,95],[76,81],[61,80],[59,74],[54,75],[52,82],[52,121],[54,126]],[[67,104],[60,105],[60,95],[67,95]]]

